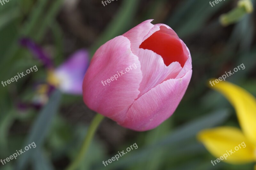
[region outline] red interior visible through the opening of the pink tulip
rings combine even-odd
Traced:
[[[140,44],[140,48],[149,49],[161,55],[166,66],[177,61],[183,67],[188,59],[188,55],[184,52],[184,46],[177,34],[165,26],[160,26],[160,30],[143,41]]]

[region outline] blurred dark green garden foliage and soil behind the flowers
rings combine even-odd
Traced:
[[[156,129],[135,132],[105,118],[79,168],[253,169],[253,163],[213,166],[211,160],[216,158],[196,139],[202,129],[239,127],[228,100],[208,88],[209,78],[219,78],[243,63],[245,69],[227,81],[256,96],[255,11],[228,26],[220,23],[220,16],[237,8],[237,2],[221,1],[213,7],[205,0],[118,0],[106,6],[100,0],[11,0],[0,4],[0,81],[35,65],[38,68],[0,87],[0,159],[36,144],[17,159],[0,163],[0,169],[65,169],[80,150],[95,116],[82,95],[58,89],[49,95],[38,92],[36,85],[47,79],[49,70],[20,40],[33,40],[58,66],[80,49],[88,51],[91,58],[100,45],[147,19],[172,27],[188,46],[193,66],[188,90],[174,114]],[[255,1],[252,3],[255,9]],[[40,106],[35,105],[38,98],[44,101]],[[138,149],[106,167],[102,164],[134,143]]]

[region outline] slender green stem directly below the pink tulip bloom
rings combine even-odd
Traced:
[[[79,166],[80,162],[84,160],[85,153],[87,152],[87,149],[92,141],[92,138],[95,134],[96,129],[98,128],[100,122],[103,120],[104,116],[97,114],[94,119],[92,120],[92,123],[87,131],[87,134],[84,138],[83,145],[74,159],[74,161],[68,166],[66,170],[75,170]]]

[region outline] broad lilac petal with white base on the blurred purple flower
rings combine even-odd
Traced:
[[[82,94],[84,74],[88,65],[89,53],[82,49],[76,51],[65,63],[54,70],[54,75],[60,81],[60,90],[70,94]]]

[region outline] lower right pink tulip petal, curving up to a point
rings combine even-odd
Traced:
[[[153,129],[169,118],[188,87],[192,70],[183,78],[169,79],[135,100],[121,126],[136,131]]]

